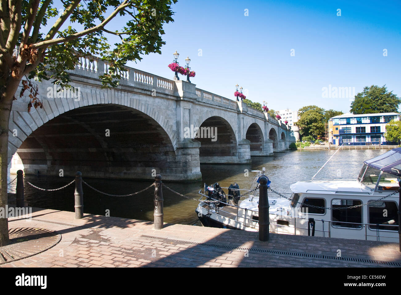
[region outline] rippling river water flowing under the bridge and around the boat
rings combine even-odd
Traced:
[[[340,150],[329,163],[320,171],[315,179],[356,179],[363,161],[381,155],[388,150]],[[253,182],[255,173],[251,170],[266,168],[266,175],[271,181],[271,188],[282,193],[290,193],[290,184],[296,181],[310,180],[311,177],[324,165],[335,151],[307,150],[286,151],[275,153],[271,157],[252,157],[251,164],[241,165],[201,165],[203,180],[196,183],[174,183],[166,181],[165,185],[175,191],[198,199],[198,191],[203,183],[211,185],[219,182],[221,186],[228,187],[237,182],[242,189],[248,189]],[[246,169],[248,173],[246,173]],[[248,175],[248,176],[247,176]],[[11,175],[14,179],[15,175]],[[83,179],[100,191],[125,195],[140,191],[152,184],[152,181],[132,181],[127,179]],[[58,177],[46,175],[25,175],[24,193],[25,203],[28,206],[49,208],[55,210],[74,211],[74,189],[71,184],[59,191],[41,191],[26,183],[53,189],[62,187],[73,177]],[[9,185],[8,191],[15,192],[16,181]],[[140,220],[153,220],[153,187],[144,193],[130,197],[109,197],[98,193],[83,184],[84,212],[89,214],[105,215],[109,210],[110,216],[132,218]],[[227,189],[225,190],[227,193]],[[185,199],[167,189],[163,189],[164,196],[164,222],[179,224],[194,224],[197,220],[195,208],[197,202]],[[199,225],[199,223],[196,223]]]

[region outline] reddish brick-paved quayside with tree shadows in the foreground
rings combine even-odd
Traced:
[[[33,208],[31,221],[9,228],[40,227],[62,235],[54,247],[0,267],[399,267],[397,243],[270,234],[153,222]],[[144,236],[151,236],[146,238]],[[164,238],[165,240],[162,240]],[[335,259],[338,250],[342,258]],[[296,254],[294,254],[296,253]],[[308,255],[306,255],[308,254]],[[322,255],[327,255],[326,258]],[[334,259],[333,259],[334,257]],[[385,265],[363,259],[393,262]],[[359,261],[358,261],[359,260]],[[396,263],[396,264],[394,264]],[[397,265],[398,264],[398,265]]]

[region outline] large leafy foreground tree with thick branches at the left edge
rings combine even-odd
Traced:
[[[81,3],[82,2],[82,3]],[[8,121],[15,92],[30,90],[31,106],[41,107],[38,89],[31,79],[53,79],[68,86],[69,75],[79,57],[101,56],[109,71],[101,76],[103,86],[115,87],[127,61],[140,55],[161,53],[163,24],[172,19],[171,4],[177,0],[61,1],[63,12],[48,32],[43,26],[58,16],[52,0],[0,0],[0,207],[7,203]],[[115,19],[117,17],[117,19]],[[107,30],[115,19],[119,31]],[[65,27],[61,29],[62,27]],[[81,31],[75,28],[82,27]],[[109,45],[107,37],[120,41]],[[15,50],[18,47],[18,50]],[[8,244],[6,218],[0,218],[0,246]]]

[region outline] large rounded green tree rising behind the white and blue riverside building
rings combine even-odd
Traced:
[[[400,98],[392,91],[387,92],[386,85],[366,86],[363,92],[356,94],[355,100],[351,103],[350,112],[354,115],[398,112],[400,103]]]

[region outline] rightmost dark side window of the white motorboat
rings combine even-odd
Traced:
[[[369,225],[371,230],[376,230],[379,224],[379,230],[394,230],[398,231],[398,208],[393,201],[377,201],[369,204]],[[383,224],[387,224],[383,225]]]

